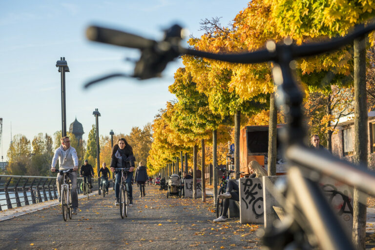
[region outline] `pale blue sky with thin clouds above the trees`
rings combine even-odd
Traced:
[[[83,84],[112,72],[131,73],[138,58],[135,50],[98,44],[84,37],[85,28],[100,24],[111,28],[162,38],[173,23],[195,37],[199,21],[222,17],[228,24],[247,7],[247,0],[13,0],[0,1],[0,117],[3,118],[0,156],[12,134],[32,140],[38,133],[53,135],[61,130],[60,73],[56,61],[65,57],[67,129],[75,117],[83,124],[87,139],[99,109],[99,134],[128,134],[133,126],[152,122],[158,110],[174,98],[168,92],[173,73],[181,61],[170,63],[162,78],[138,81],[112,79],[89,90]],[[185,43],[186,41],[184,41]]]

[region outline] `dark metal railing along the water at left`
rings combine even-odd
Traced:
[[[92,190],[98,190],[98,178],[92,179]],[[108,181],[111,181],[110,179]],[[83,178],[77,178],[77,192]],[[56,177],[0,175],[0,211],[57,199]]]

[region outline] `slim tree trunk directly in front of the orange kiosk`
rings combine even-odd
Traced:
[[[277,109],[275,93],[270,96],[270,123],[268,125],[268,162],[267,174],[276,175],[276,136],[277,136]]]

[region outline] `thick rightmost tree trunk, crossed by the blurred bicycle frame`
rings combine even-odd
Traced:
[[[354,163],[367,168],[367,96],[365,37],[354,40]],[[354,187],[353,244],[355,249],[366,246],[366,204],[359,202],[360,193]],[[363,199],[362,200],[366,200]]]

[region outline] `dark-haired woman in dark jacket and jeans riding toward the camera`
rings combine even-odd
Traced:
[[[116,145],[114,145],[112,148],[111,165],[110,165],[111,171],[116,174],[115,205],[120,205],[119,193],[120,193],[121,171],[116,171],[117,168],[129,168],[129,171],[126,171],[127,178],[125,180],[125,186],[129,194],[129,205],[133,204],[133,188],[131,186],[131,179],[133,178],[134,161],[135,161],[135,157],[133,156],[133,149],[131,148],[131,146],[127,143],[125,138],[118,139]]]

